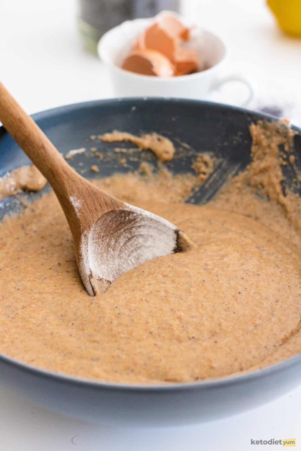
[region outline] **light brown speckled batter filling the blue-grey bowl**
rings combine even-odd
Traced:
[[[53,193],[6,218],[0,352],[59,373],[133,383],[225,376],[300,353],[301,202],[281,186],[293,133],[281,123],[250,131],[252,162],[204,206],[184,203],[199,183],[193,175],[162,169],[95,182],[196,244],[121,275],[104,295],[84,290]]]

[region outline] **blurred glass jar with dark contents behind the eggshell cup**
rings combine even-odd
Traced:
[[[125,20],[153,17],[163,9],[179,12],[180,0],[78,0],[79,33],[85,50],[97,54],[102,35]]]

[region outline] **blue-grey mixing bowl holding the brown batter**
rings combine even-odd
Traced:
[[[98,152],[104,156],[107,152],[113,154],[112,148],[116,143],[95,143],[90,139],[91,135],[113,129],[131,133],[155,131],[170,138],[178,150],[176,158],[167,163],[174,173],[191,171],[197,152],[213,152],[218,159],[222,158],[224,164],[217,167],[214,177],[193,196],[194,202],[208,201],[229,174],[243,170],[248,164],[251,146],[249,125],[260,119],[273,120],[271,116],[231,106],[167,98],[80,103],[38,113],[33,115],[33,119],[64,154],[70,149],[86,147],[89,150],[93,146],[97,146]],[[300,165],[300,152],[301,136],[296,134],[297,166]],[[97,156],[78,155],[70,163],[84,176],[102,177],[116,171],[137,169],[145,155],[155,162],[150,152],[133,155],[137,161],[130,161],[130,167],[118,164],[117,155],[108,161],[106,158],[99,161]],[[25,154],[0,128],[0,176],[28,163]],[[86,171],[93,164],[99,167],[98,174]],[[292,188],[292,167],[287,165],[283,171],[286,183]],[[46,186],[43,192],[47,189]],[[23,198],[31,201],[40,195],[24,193]],[[9,212],[21,210],[22,196],[6,198],[0,203],[0,220]],[[292,390],[301,383],[301,355],[251,373],[160,385],[80,379],[34,368],[0,355],[0,383],[48,409],[93,423],[184,425],[237,414]]]

